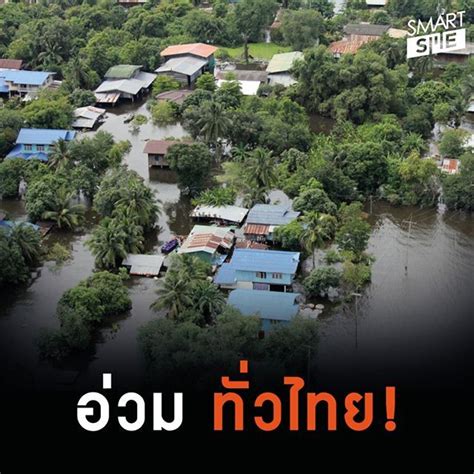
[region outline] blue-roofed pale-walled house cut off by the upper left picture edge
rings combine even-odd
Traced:
[[[0,69],[0,93],[35,96],[53,83],[54,72]]]

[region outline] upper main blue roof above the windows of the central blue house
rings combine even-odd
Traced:
[[[299,252],[235,249],[230,265],[235,270],[294,275],[299,261]]]

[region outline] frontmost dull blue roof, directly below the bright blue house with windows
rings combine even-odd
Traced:
[[[242,314],[257,314],[262,319],[291,321],[298,313],[295,299],[299,293],[280,293],[278,291],[233,290],[229,294],[229,305]]]

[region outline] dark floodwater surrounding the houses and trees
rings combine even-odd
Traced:
[[[137,104],[121,106],[109,111],[100,130],[110,131],[116,139],[130,140],[132,150],[126,162],[163,202],[160,232],[147,248],[152,250],[172,234],[189,231],[191,205],[188,198],[180,196],[173,173],[153,170],[149,174],[143,148],[147,139],[182,137],[185,132],[180,125],[161,128],[149,122],[132,134],[123,122],[132,109],[149,116],[144,104],[139,104],[138,110]],[[282,202],[285,196],[276,192],[272,198]],[[21,201],[0,201],[0,210],[13,218],[24,218]],[[408,376],[419,374],[424,366],[426,373],[437,370],[447,354],[463,354],[474,329],[474,220],[461,212],[396,208],[384,203],[374,203],[372,211],[374,232],[369,250],[376,257],[373,282],[358,302],[357,318],[354,304],[323,313],[313,363],[319,374],[347,380],[393,368]],[[408,232],[410,218],[413,223]],[[41,328],[58,327],[55,308],[59,298],[93,270],[93,258],[84,242],[96,220],[97,216],[89,213],[83,232],[48,236],[47,242],[58,240],[72,248],[72,261],[59,268],[47,263],[27,288],[9,290],[8,294],[2,291],[0,357],[9,371],[0,377],[9,384],[44,386],[49,377],[57,387],[58,381],[72,373],[76,387],[95,387],[99,375],[106,371],[119,374],[114,386],[137,386],[143,379],[136,337],[137,329],[156,317],[149,309],[156,297],[153,279],[129,280],[132,310],[100,330],[89,352],[54,371],[38,358],[35,341]]]

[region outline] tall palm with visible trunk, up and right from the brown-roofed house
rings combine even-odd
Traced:
[[[209,145],[214,145],[216,160],[222,157],[221,139],[226,136],[232,122],[220,102],[206,102],[201,108],[201,117],[197,121],[199,133]]]

